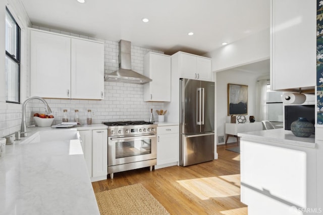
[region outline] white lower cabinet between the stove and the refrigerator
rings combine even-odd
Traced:
[[[179,126],[158,126],[155,169],[179,165],[179,152]]]

